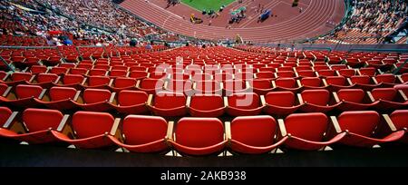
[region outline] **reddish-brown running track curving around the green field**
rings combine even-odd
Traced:
[[[345,11],[344,0],[310,0],[302,14],[287,21],[258,27],[227,29],[208,24],[191,24],[188,19],[185,20],[180,15],[145,0],[125,0],[121,3],[121,7],[176,34],[209,40],[232,39],[239,34],[244,41],[257,43],[292,41],[325,34],[333,29],[325,23],[327,21],[340,22]]]

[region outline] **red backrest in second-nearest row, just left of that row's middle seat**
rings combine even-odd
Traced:
[[[185,106],[187,98],[184,93],[160,92],[154,96],[154,106],[160,109],[171,109]]]

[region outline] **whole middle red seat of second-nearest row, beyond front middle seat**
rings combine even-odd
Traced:
[[[219,117],[224,114],[225,105],[218,94],[196,94],[191,96],[189,114],[194,117]]]

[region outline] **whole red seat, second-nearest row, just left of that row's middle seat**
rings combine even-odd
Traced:
[[[149,102],[151,112],[160,116],[183,116],[187,113],[184,93],[160,92]]]

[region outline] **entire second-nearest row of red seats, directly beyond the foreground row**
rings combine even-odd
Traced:
[[[194,94],[159,92],[148,96],[142,91],[123,90],[117,94],[105,89],[85,89],[83,92],[72,87],[54,86],[49,91],[38,85],[19,84],[12,87],[0,85],[0,102],[16,107],[46,106],[52,109],[122,113],[148,113],[161,116],[184,116],[188,112],[196,117],[219,117],[227,112],[230,116],[257,115],[266,112],[285,116],[302,112],[380,111],[403,109],[408,98],[403,91],[393,88],[374,88],[371,92],[361,89],[342,89],[330,93],[325,89],[305,90],[302,93],[270,92]]]

